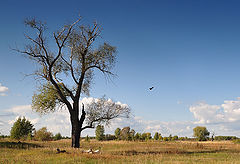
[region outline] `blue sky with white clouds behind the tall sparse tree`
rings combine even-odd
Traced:
[[[129,121],[139,131],[165,128],[166,135],[190,136],[192,127],[204,125],[219,135],[240,136],[239,8],[237,0],[1,1],[0,132],[9,132],[19,114],[13,108],[30,105],[36,90],[34,79],[24,78],[34,64],[10,49],[26,43],[23,20],[39,18],[52,32],[80,14],[84,24],[102,24],[102,41],[118,50],[118,77],[112,83],[96,73],[91,97],[105,94],[127,103],[132,122],[141,118],[149,126]],[[174,130],[176,124],[182,132]]]

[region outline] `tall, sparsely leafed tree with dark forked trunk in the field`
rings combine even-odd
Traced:
[[[82,105],[80,112],[80,96],[89,95],[94,70],[112,76],[111,70],[116,61],[116,47],[108,43],[96,45],[101,27],[96,22],[91,26],[80,25],[80,20],[65,25],[51,37],[45,36],[45,23],[35,18],[26,19],[25,24],[37,35],[26,34],[30,43],[24,50],[15,49],[37,63],[38,69],[33,75],[43,82],[33,95],[32,108],[48,113],[66,106],[72,125],[72,147],[75,148],[80,147],[79,139],[84,129],[94,128],[95,123],[108,123],[113,118],[128,116],[130,112],[126,106],[105,104],[105,99],[93,103],[87,111]],[[54,41],[55,48],[50,47],[50,41]]]

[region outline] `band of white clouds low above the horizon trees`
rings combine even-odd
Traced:
[[[83,98],[81,102],[88,104],[94,98]],[[110,100],[109,100],[110,101]],[[118,102],[120,103],[120,102]],[[122,104],[122,103],[121,103]],[[126,105],[126,104],[123,104]],[[116,118],[105,126],[106,134],[114,134],[116,128],[130,126],[136,132],[160,132],[163,136],[178,135],[192,137],[192,129],[198,125],[206,126],[215,135],[235,135],[240,136],[240,98],[237,100],[227,100],[221,105],[209,105],[200,102],[190,106],[189,111],[193,113],[195,120],[164,122],[159,120],[145,120],[143,117]],[[15,106],[5,110],[10,116],[0,116],[1,133],[9,134],[10,128],[19,116],[25,116],[35,126],[36,129],[47,127],[54,134],[60,132],[64,136],[70,136],[71,125],[70,116],[66,109],[58,110],[48,115],[40,116],[31,109],[31,105]],[[3,124],[4,122],[4,124]],[[82,136],[95,135],[94,129],[83,131]]]

